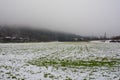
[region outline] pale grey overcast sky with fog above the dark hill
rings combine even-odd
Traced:
[[[0,0],[0,24],[120,35],[120,0]]]

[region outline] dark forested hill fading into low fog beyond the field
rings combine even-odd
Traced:
[[[0,42],[80,41],[81,36],[47,29],[0,26]]]

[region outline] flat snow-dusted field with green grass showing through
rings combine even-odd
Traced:
[[[0,43],[0,80],[120,80],[120,44]]]

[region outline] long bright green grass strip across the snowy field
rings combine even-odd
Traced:
[[[111,61],[84,61],[84,60],[49,60],[49,59],[36,59],[29,61],[28,63],[37,66],[62,66],[62,67],[78,67],[78,66],[86,66],[86,67],[94,67],[94,66],[108,66],[112,67],[120,64],[116,60]]]

